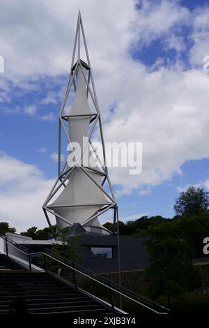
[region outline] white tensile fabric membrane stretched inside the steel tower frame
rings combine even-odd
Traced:
[[[82,68],[84,73],[86,69]],[[86,137],[88,131],[88,125],[91,121],[91,110],[88,105],[88,99],[86,96],[86,82],[82,74],[81,68],[78,66],[77,69],[77,87],[75,93],[75,100],[72,104],[70,112],[67,115],[88,115],[84,117],[68,117],[69,136],[71,142],[78,142],[82,148],[83,137]],[[99,171],[98,166],[95,167]],[[87,169],[88,174],[91,178],[101,186],[101,175],[100,173],[93,172]],[[75,167],[72,174],[68,179],[68,184],[63,189],[62,193],[53,202],[53,205],[66,206],[54,208],[55,214],[59,214],[65,220],[70,223],[80,223],[84,225],[85,221],[91,216],[95,215],[99,209],[107,204],[107,197],[103,191],[88,177],[88,175],[79,167]],[[85,204],[93,204],[93,206],[85,206]],[[67,207],[67,205],[82,205]],[[68,226],[67,223],[62,221],[56,216],[57,225],[63,229]],[[98,227],[100,233],[102,233],[102,225],[100,225],[98,218],[93,219],[86,223],[87,230],[91,229],[91,225],[95,229]]]

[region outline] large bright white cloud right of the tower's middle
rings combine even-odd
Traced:
[[[143,142],[144,152],[141,175],[130,176],[125,168],[109,170],[112,181],[122,185],[122,193],[171,179],[180,174],[185,161],[206,158],[209,151],[208,75],[168,68],[147,73],[135,63],[126,67],[132,74],[104,124],[104,137]],[[117,77],[111,76],[112,85],[118,85]]]

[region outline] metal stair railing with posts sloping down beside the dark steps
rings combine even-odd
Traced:
[[[86,292],[86,290],[83,290],[78,286],[81,277],[90,279],[90,281],[92,281],[94,285],[95,284],[100,285],[100,288],[104,288],[106,291],[109,292],[111,308],[115,312],[118,312],[118,309],[116,308],[115,305],[115,299],[113,295],[114,293],[116,293],[116,295],[121,295],[121,297],[124,297],[125,299],[131,301],[133,304],[142,306],[147,310],[152,311],[153,313],[157,313],[157,314],[169,313],[168,308],[165,308],[164,306],[161,306],[160,304],[157,304],[154,301],[150,301],[150,299],[147,299],[146,297],[142,297],[141,295],[138,295],[137,293],[132,292],[131,290],[128,290],[127,288],[124,288],[121,285],[118,285],[118,283],[115,283],[114,281],[110,281],[109,279],[104,278],[100,274],[97,274],[89,269],[86,269],[85,267],[82,267],[82,265],[80,264],[77,264],[66,258],[63,258],[61,255],[58,255],[49,250],[45,250],[44,252],[29,253],[27,248],[20,246],[19,244],[15,243],[15,241],[11,241],[6,237],[1,237],[1,238],[3,238],[6,246],[6,255],[10,257],[9,248],[12,247],[13,249],[15,249],[16,253],[20,253],[20,255],[23,255],[24,261],[27,258],[28,267],[30,271],[36,271],[37,267],[40,268],[40,266],[42,266],[42,269],[45,269],[45,271],[48,271],[49,273],[55,275],[57,278],[61,278],[59,274],[55,274],[52,271],[54,264],[56,269],[58,268],[57,265],[59,264],[59,267],[63,267],[64,270],[70,270],[72,272],[71,281],[69,281],[70,278],[69,276],[67,277],[66,274],[63,278],[61,278],[61,280],[65,281],[65,283],[70,283],[70,285],[73,285],[74,288]],[[36,257],[36,266],[33,265],[32,263],[33,257]],[[20,256],[20,259],[22,259],[22,256]],[[100,301],[102,301],[100,297],[99,299]]]

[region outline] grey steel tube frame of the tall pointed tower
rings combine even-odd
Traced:
[[[83,41],[84,41],[84,50],[86,53],[87,63],[81,59],[81,38],[83,38]],[[77,52],[77,56],[76,56],[76,52]],[[75,62],[76,57],[77,57],[77,61]],[[87,98],[89,96],[91,97],[91,100],[92,100],[94,108],[95,108],[95,113],[88,114],[88,115],[87,114],[86,115],[82,115],[82,114],[78,114],[78,115],[68,114],[67,115],[63,112],[65,109],[66,102],[68,100],[68,96],[70,94],[70,90],[72,88],[74,88],[74,90],[76,91],[76,72],[77,72],[78,68],[80,68],[80,70],[82,71],[82,76],[84,77],[84,80],[86,82],[86,95],[87,95]],[[84,68],[88,71],[87,77],[84,73]],[[85,116],[88,116],[88,117],[91,116],[91,121],[90,121],[89,125],[91,123],[93,123],[93,124],[91,126],[91,129],[90,129],[87,137],[88,137],[88,142],[91,145],[96,158],[100,162],[100,165],[102,168],[101,172],[98,172],[98,170],[94,169],[93,167],[85,167],[80,162],[80,160],[84,154],[84,151],[88,145],[88,142],[84,145],[84,149],[82,151],[81,158],[77,159],[77,156],[75,154],[76,163],[74,166],[68,168],[67,161],[66,161],[65,165],[63,167],[61,167],[62,131],[64,132],[65,137],[67,138],[67,141],[69,142],[69,144],[71,144],[70,136],[67,131],[67,128],[65,127],[64,121],[68,121],[68,118],[70,118],[70,117],[85,117]],[[97,127],[99,128],[100,140],[102,142],[103,163],[100,160],[100,157],[98,156],[96,149],[93,147],[93,143],[91,140],[91,136],[92,136],[93,132],[95,131],[95,128],[97,128]],[[72,149],[72,151],[74,151],[74,150]],[[59,192],[59,189],[61,187],[66,186],[65,181],[67,181],[67,179],[69,179],[72,172],[74,172],[75,167],[80,167],[80,169],[88,176],[88,178],[91,179],[98,188],[100,188],[100,190],[104,193],[104,195],[106,195],[106,197],[108,199],[106,204],[104,204],[104,203],[102,203],[102,204],[94,204],[94,203],[93,204],[82,204],[82,202],[81,202],[81,204],[65,204],[65,205],[50,204],[50,200],[52,200],[54,195],[56,195],[56,193]],[[102,178],[101,185],[99,185],[97,183],[97,181],[95,181],[95,179],[93,179],[93,177],[91,177],[89,175],[89,170],[100,173],[101,178]],[[104,184],[107,184],[107,186],[109,187],[109,193],[107,193],[107,191],[104,190],[104,188],[103,188]],[[98,98],[97,98],[96,91],[95,91],[95,84],[93,81],[93,73],[91,70],[91,64],[90,64],[90,59],[89,59],[89,55],[88,55],[88,48],[86,45],[86,37],[85,37],[85,33],[84,33],[82,15],[79,10],[79,15],[78,15],[78,19],[77,19],[77,28],[75,31],[75,41],[74,41],[73,52],[72,52],[70,76],[68,77],[68,83],[67,83],[67,87],[65,89],[65,96],[63,98],[61,110],[59,112],[58,177],[54,183],[54,186],[52,187],[51,191],[49,192],[47,199],[45,200],[44,204],[42,205],[42,209],[47,218],[49,227],[52,228],[52,224],[50,222],[48,213],[53,214],[54,216],[58,217],[61,221],[63,221],[64,223],[67,223],[69,226],[72,226],[72,224],[73,224],[72,222],[66,220],[63,216],[56,214],[55,211],[53,211],[54,209],[64,208],[64,207],[65,208],[66,207],[87,207],[87,206],[95,206],[95,205],[101,205],[102,207],[98,211],[96,211],[92,216],[90,216],[89,218],[86,218],[86,221],[84,221],[84,223],[82,223],[82,225],[86,225],[86,223],[90,223],[94,218],[97,218],[101,214],[104,214],[104,212],[108,211],[109,209],[114,209],[113,223],[114,223],[114,232],[115,232],[116,231],[116,222],[118,222],[118,206],[117,206],[116,197],[114,195],[114,191],[111,186],[111,182],[110,182],[109,174],[108,174],[108,170],[107,170],[107,161],[106,161],[105,149],[104,149],[104,137],[103,137],[103,133],[102,133],[102,121],[101,121],[101,116],[100,116],[100,109],[99,109],[99,105],[98,105]],[[103,229],[107,230],[107,228],[104,228],[104,227],[103,227]],[[52,229],[52,231],[53,231],[53,229]],[[107,231],[109,232],[109,230],[107,230]]]

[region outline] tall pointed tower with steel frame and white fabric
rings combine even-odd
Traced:
[[[70,108],[67,103],[70,103]],[[93,133],[100,138],[102,158],[91,140]],[[61,165],[62,134],[65,135],[65,144],[68,144],[70,154],[75,158],[74,164],[70,165],[66,161],[63,167]],[[83,137],[86,137],[86,144],[83,143]],[[75,149],[72,149],[72,142],[77,142],[81,147],[79,158]],[[91,149],[87,153],[90,159],[88,165],[83,161],[86,147]],[[56,225],[61,230],[74,225],[79,228],[82,226],[83,231],[93,234],[110,233],[98,220],[104,212],[111,209],[114,224],[118,218],[116,197],[107,171],[100,110],[80,12],[70,76],[59,114],[58,178],[42,209],[51,227],[49,213],[55,216]]]

